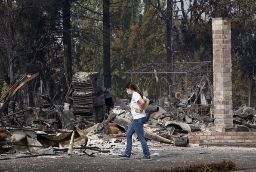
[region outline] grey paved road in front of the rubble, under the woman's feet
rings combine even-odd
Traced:
[[[0,172],[143,172],[185,163],[190,165],[222,160],[233,161],[238,169],[256,169],[255,147],[164,146],[150,147],[150,151],[151,161],[137,160],[142,155],[141,152],[135,152],[130,160],[117,158],[115,154],[119,152],[94,154],[93,157],[59,154],[63,157],[0,160]],[[0,159],[6,157],[1,156]]]

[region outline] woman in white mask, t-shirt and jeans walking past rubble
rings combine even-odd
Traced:
[[[132,135],[136,132],[139,141],[142,144],[143,156],[139,158],[139,160],[151,160],[150,153],[148,150],[148,144],[145,140],[143,133],[143,124],[146,122],[146,113],[145,110],[148,108],[149,99],[142,95],[139,91],[139,88],[135,83],[129,82],[126,84],[126,92],[127,94],[132,94],[132,100],[130,103],[131,114],[133,115],[133,121],[130,124],[127,132],[126,132],[126,149],[125,152],[118,156],[123,159],[130,159],[133,140]]]

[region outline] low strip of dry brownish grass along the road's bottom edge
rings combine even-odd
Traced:
[[[182,165],[173,168],[157,169],[147,172],[230,172],[235,168],[232,161],[223,160],[220,163],[196,163],[194,165]]]

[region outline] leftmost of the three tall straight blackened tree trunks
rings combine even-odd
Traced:
[[[64,86],[64,96],[72,82],[72,55],[71,55],[71,20],[70,20],[70,2],[65,0],[63,9],[63,46],[64,46],[64,75],[66,86]]]

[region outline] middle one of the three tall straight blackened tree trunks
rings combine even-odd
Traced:
[[[106,89],[111,88],[109,7],[110,0],[103,0],[103,83]]]

